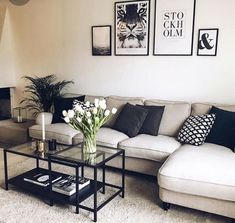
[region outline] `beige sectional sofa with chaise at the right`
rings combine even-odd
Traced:
[[[95,98],[86,96],[85,100]],[[158,136],[141,134],[129,138],[111,128],[115,116],[99,130],[97,144],[125,149],[127,170],[158,176],[159,194],[166,209],[166,204],[171,203],[235,218],[235,153],[210,143],[199,147],[182,145],[176,139],[190,114],[205,114],[210,104],[119,96],[108,96],[106,101],[108,107],[118,111],[127,102],[165,106]],[[217,106],[235,111],[235,105]],[[30,127],[29,133],[33,138],[41,138],[41,126]],[[76,144],[83,139],[81,133],[64,123],[46,126],[46,138],[63,144]],[[119,167],[120,162],[117,159],[110,165]]]

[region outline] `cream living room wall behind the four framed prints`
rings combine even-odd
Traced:
[[[71,92],[168,100],[235,102],[235,1],[197,0],[193,56],[91,55],[91,26],[114,24],[114,0],[30,0],[9,4],[17,51],[18,95],[29,74],[73,79]],[[112,27],[114,28],[114,26]],[[196,56],[199,28],[219,28],[216,57]]]

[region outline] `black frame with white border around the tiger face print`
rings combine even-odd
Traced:
[[[117,50],[117,6],[118,5],[130,5],[130,4],[141,4],[141,3],[147,3],[147,31],[146,31],[146,48],[144,50],[141,50],[140,48],[126,48],[128,52],[120,52],[120,50]],[[114,3],[114,55],[115,56],[148,56],[149,55],[149,38],[150,38],[150,0],[131,0],[131,1],[122,1],[122,2],[115,2]],[[140,52],[143,51],[143,52]]]

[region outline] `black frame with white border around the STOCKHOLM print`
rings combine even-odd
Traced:
[[[154,35],[153,35],[153,56],[192,56],[193,55],[193,42],[194,42],[194,26],[195,26],[195,11],[196,11],[196,0],[189,0],[191,1],[192,4],[192,26],[191,26],[191,31],[189,32],[190,34],[190,42],[188,43],[189,45],[189,53],[161,53],[157,52],[156,46],[157,46],[157,40],[156,40],[156,32],[157,32],[157,1],[160,0],[155,0],[155,6],[154,6]],[[167,1],[167,0],[164,0]],[[177,1],[175,1],[177,3]],[[178,0],[178,2],[180,2]],[[178,8],[177,8],[178,9]]]

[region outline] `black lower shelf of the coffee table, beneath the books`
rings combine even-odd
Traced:
[[[37,169],[37,168],[35,168],[35,169],[32,169],[28,172],[25,172],[25,173],[21,174],[21,175],[18,175],[16,177],[13,177],[13,178],[9,179],[8,183],[15,186],[16,188],[19,188],[20,190],[23,190],[23,191],[28,192],[28,193],[32,193],[32,194],[34,194],[36,196],[39,196],[43,199],[48,199],[49,200],[49,198],[50,198],[49,194],[50,193],[49,193],[49,187],[48,186],[47,187],[42,187],[42,186],[24,181],[25,176],[27,176],[29,173],[32,173],[32,174],[36,173],[36,171],[38,171],[38,170],[48,172],[48,170],[46,170],[46,169],[42,169],[42,168]],[[60,175],[62,175],[62,177],[69,176],[67,174],[63,174],[63,173],[59,173],[59,172],[55,172],[55,171],[52,171],[52,173],[60,174]],[[103,183],[97,181],[96,190],[98,191],[102,187],[103,187]],[[93,195],[94,192],[95,192],[95,184],[94,184],[93,180],[90,180],[89,185],[87,185],[86,187],[79,190],[79,203],[83,202],[88,197]],[[71,196],[66,196],[66,195],[63,195],[63,194],[60,194],[60,193],[57,193],[57,192],[52,192],[51,196],[52,196],[52,198],[55,202],[68,203],[70,205],[76,205],[76,193],[71,195]]]

